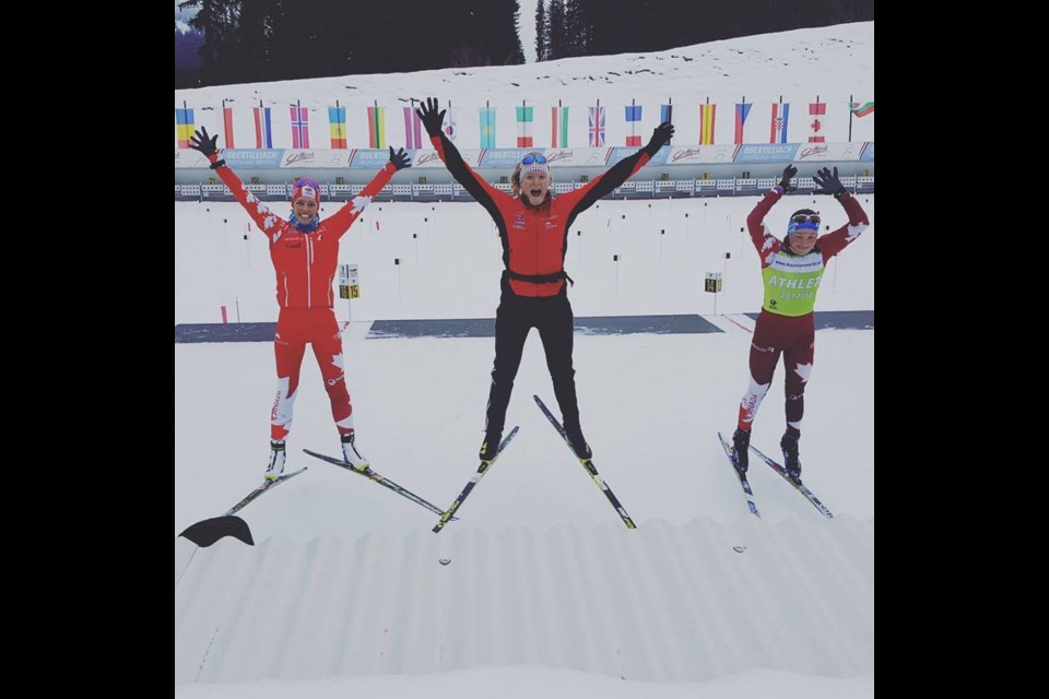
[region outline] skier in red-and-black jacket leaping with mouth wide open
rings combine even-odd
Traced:
[[[545,156],[529,154],[514,169],[514,196],[510,196],[486,182],[463,162],[441,131],[445,112],[438,112],[436,99],[427,99],[419,116],[445,166],[491,214],[503,241],[503,295],[495,317],[495,366],[479,455],[482,461],[495,457],[524,340],[535,328],[546,353],[546,367],[568,441],[579,459],[590,459],[592,451],[579,423],[571,366],[573,315],[565,285],[565,280],[571,280],[564,266],[568,229],[576,216],[644,167],[670,141],[674,127],[670,122],[661,123],[644,149],[585,187],[556,197],[550,191]]]

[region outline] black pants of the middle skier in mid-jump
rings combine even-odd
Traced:
[[[532,328],[539,329],[540,340],[543,341],[546,368],[554,382],[554,395],[561,405],[565,429],[569,434],[578,434],[581,430],[576,400],[576,371],[571,368],[573,316],[568,297],[564,294],[517,296],[506,288],[495,313],[495,367],[492,369],[485,431],[503,430],[514,379],[521,366],[524,340]]]

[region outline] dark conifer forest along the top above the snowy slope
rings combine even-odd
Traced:
[[[873,0],[186,0],[202,35],[199,69],[175,87],[523,63],[653,51],[874,19]],[[177,29],[176,29],[177,39]],[[176,56],[178,46],[176,45]]]

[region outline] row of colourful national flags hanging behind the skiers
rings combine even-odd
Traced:
[[[851,127],[851,119],[863,118],[871,114],[874,114],[874,100],[870,102],[850,102],[849,105],[849,119]],[[715,144],[715,125],[717,122],[717,109],[718,105],[716,104],[702,104],[699,107],[699,130],[698,139],[694,141],[700,145],[712,145]],[[741,144],[743,143],[743,130],[744,126],[747,122],[747,119],[751,116],[752,107],[754,105],[747,102],[735,103],[734,105],[734,138],[733,143]],[[680,105],[679,105],[680,108]],[[366,107],[367,118],[368,118],[368,147],[370,149],[385,149],[388,145],[387,142],[387,108],[380,107],[376,104],[373,107]],[[551,117],[550,117],[550,146],[551,147],[568,147],[568,115],[569,107],[557,106],[551,107]],[[587,145],[590,147],[604,147],[609,145],[608,143],[608,107],[601,105],[601,102],[592,107],[587,107]],[[644,145],[644,134],[640,133],[640,122],[641,116],[645,107],[643,105],[627,105],[624,107],[624,123],[626,126],[626,135],[624,145],[639,147]],[[309,108],[302,106],[292,106],[288,107],[288,123],[291,125],[291,135],[292,135],[292,147],[293,149],[308,149],[310,147],[309,142]],[[673,120],[673,110],[674,105],[665,104],[660,105],[659,107],[659,120],[662,121],[672,121]],[[426,137],[425,131],[422,128],[419,115],[415,112],[414,107],[402,107],[403,118],[404,118],[404,144],[409,149],[423,149],[429,146],[429,138]],[[790,103],[783,102],[774,102],[769,110],[769,121],[768,121],[768,143],[788,143],[788,129],[790,128]],[[255,121],[255,140],[254,147],[256,149],[272,149],[273,147],[273,123],[271,117],[270,107],[252,107],[252,116]],[[480,128],[480,147],[482,149],[492,149],[496,147],[496,129],[495,129],[495,117],[496,117],[496,107],[485,106],[480,107],[479,112],[479,128]],[[538,144],[535,142],[535,134],[533,131],[534,121],[535,121],[535,108],[528,106],[527,104],[521,104],[516,107],[516,118],[517,118],[517,147],[529,149],[535,147]],[[808,119],[805,120],[805,132],[809,143],[824,143],[826,137],[825,122],[827,118],[827,103],[820,102],[818,98],[816,102],[809,103]],[[224,147],[238,147],[237,140],[234,134],[234,119],[233,119],[233,108],[225,107],[222,108],[222,119],[223,119],[223,130]],[[328,107],[328,127],[329,127],[329,137],[332,149],[347,149],[350,139],[346,132],[346,107],[334,106]],[[196,130],[196,119],[193,115],[193,109],[189,107],[176,108],[175,109],[175,128],[178,138],[178,147],[188,149],[190,145],[190,137],[193,135]],[[321,127],[322,128],[322,127]],[[457,129],[456,121],[452,118],[451,107],[447,109],[445,116],[444,125],[445,134],[452,141],[456,140]],[[797,142],[797,130],[794,133]],[[681,131],[677,131],[677,138],[681,138]],[[752,141],[753,142],[753,141]],[[251,141],[248,141],[251,143]],[[581,143],[579,144],[581,145]],[[245,143],[241,143],[239,147],[251,147]]]

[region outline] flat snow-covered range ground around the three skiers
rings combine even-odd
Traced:
[[[873,217],[873,199],[867,199]],[[708,316],[724,330],[577,334],[584,428],[596,462],[638,522],[660,518],[683,523],[696,516],[730,521],[741,512],[738,485],[719,467],[715,431],[733,428],[746,387],[747,328],[753,327],[738,315],[759,308],[762,291],[756,252],[749,238],[741,242],[739,225],[730,228],[726,220],[742,221],[754,201],[658,201],[651,224],[647,202],[601,202],[574,226],[582,235],[573,238],[566,268],[576,280],[569,297],[577,316],[691,312]],[[801,205],[780,204],[774,225],[785,225],[787,215]],[[817,205],[830,222],[844,222],[832,199],[822,198]],[[244,321],[274,320],[266,239],[252,233],[245,241],[241,224],[224,242],[221,220],[236,221],[237,205],[209,208],[210,213],[201,204],[175,204],[176,322],[219,322],[222,305],[229,316],[239,306]],[[366,221],[342,245],[342,259],[360,265],[362,296],[352,301],[352,310],[350,301],[337,305],[342,320],[353,319],[343,342],[360,446],[385,475],[448,505],[475,466],[494,342],[366,335],[376,319],[494,317],[498,240],[476,204],[378,209],[366,218],[381,216],[381,232]],[[697,225],[686,233],[682,211],[689,209],[688,220]],[[413,239],[424,214],[431,230]],[[624,221],[623,215],[628,225],[621,232],[616,222]],[[636,225],[635,218],[640,220]],[[724,252],[731,258],[726,260]],[[618,262],[613,254],[621,256]],[[403,263],[393,265],[394,258]],[[873,260],[872,227],[830,263],[817,307],[873,308]],[[717,316],[714,295],[703,292],[707,271],[726,276]],[[579,477],[581,470],[577,474],[565,467],[573,465],[571,457],[532,402],[534,393],[556,405],[538,335],[532,335],[508,412],[508,425],[520,425],[521,434],[469,501],[470,525],[590,525],[611,513]],[[816,345],[802,438],[806,475],[834,509],[868,519],[874,514],[874,333],[822,331]],[[177,533],[227,509],[261,474],[275,380],[271,343],[179,344],[175,360]],[[251,506],[247,514],[257,535],[306,538],[362,528],[410,532],[425,525],[425,511],[404,511],[410,503],[390,502],[386,490],[362,487],[368,484],[298,454],[302,448],[329,453],[339,449],[309,353],[300,387],[288,465],[313,470]],[[754,431],[755,445],[766,451],[776,451],[783,429],[782,400],[777,381]],[[697,467],[700,463],[707,467]],[[774,520],[804,505],[787,488],[762,495],[764,513]]]

